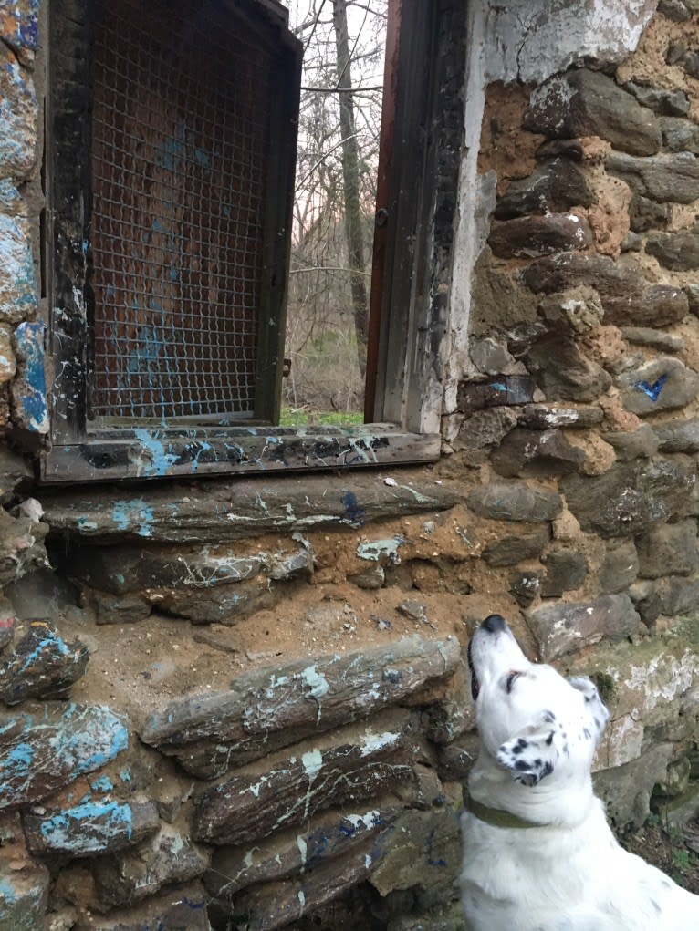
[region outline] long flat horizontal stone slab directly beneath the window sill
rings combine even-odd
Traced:
[[[225,543],[262,533],[363,527],[375,519],[444,510],[464,501],[463,485],[424,472],[216,481],[205,487],[66,490],[41,495],[54,533],[97,543]]]

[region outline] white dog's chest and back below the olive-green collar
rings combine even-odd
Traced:
[[[466,813],[461,898],[473,931],[689,931],[699,898],[627,854],[602,820],[508,830]]]

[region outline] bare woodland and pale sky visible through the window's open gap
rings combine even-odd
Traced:
[[[305,47],[285,402],[360,412],[387,0],[294,0]]]

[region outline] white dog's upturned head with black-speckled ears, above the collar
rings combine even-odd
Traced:
[[[492,759],[525,786],[555,772],[587,777],[610,716],[593,681],[530,663],[500,614],[478,627],[468,655],[476,722]]]

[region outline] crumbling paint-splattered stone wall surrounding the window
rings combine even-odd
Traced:
[[[0,3],[2,931],[460,931],[494,611],[596,678],[618,828],[699,810],[699,10],[475,6],[440,462],[49,491],[9,447],[46,430],[43,13]]]

